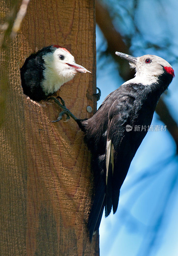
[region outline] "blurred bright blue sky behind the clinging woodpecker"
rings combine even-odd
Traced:
[[[116,1],[110,2],[114,4]],[[135,34],[132,37],[131,50],[135,56],[155,54],[172,61],[176,76],[178,3],[172,0],[168,4],[163,0],[160,5],[159,2],[139,1],[135,22],[145,41],[159,44],[169,40],[172,46],[167,50],[165,47],[164,50],[147,49],[142,47],[143,38],[141,40],[140,36]],[[120,1],[120,4],[122,3],[123,1]],[[115,10],[118,8],[116,6]],[[120,15],[124,13],[122,11]],[[114,18],[114,24],[117,28],[117,17]],[[125,24],[119,27],[123,35],[127,27],[132,28],[129,16]],[[98,27],[96,31],[97,52],[104,51],[107,44]],[[127,33],[130,32],[127,30]],[[98,107],[104,98],[123,82],[112,58],[104,56],[98,59],[97,55],[97,87],[102,92]],[[165,101],[174,119],[178,121],[177,97],[175,77]],[[164,125],[157,114],[154,115],[152,124]],[[101,256],[178,255],[178,157],[175,156],[175,150],[174,140],[168,131],[147,133],[121,188],[116,214],[102,218],[99,230]]]

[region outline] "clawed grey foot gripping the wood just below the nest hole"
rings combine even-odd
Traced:
[[[60,99],[62,104],[60,103],[60,101],[58,99]],[[59,113],[59,116],[58,116],[57,120],[54,120],[54,121],[51,121],[51,122],[54,123],[54,122],[60,121],[65,114],[66,114],[67,117],[66,117],[66,121],[64,121],[64,122],[67,122],[70,119],[70,117],[72,117],[75,121],[77,120],[77,117],[75,117],[70,112],[70,110],[68,108],[66,108],[65,102],[64,102],[64,100],[61,97],[59,97],[59,96],[57,98],[50,97],[47,100],[54,100],[58,104],[58,106],[63,109],[63,111],[61,111]]]

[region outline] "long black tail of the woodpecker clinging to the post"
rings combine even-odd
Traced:
[[[91,212],[89,214],[88,228],[90,241],[92,239],[93,232],[99,228],[103,215],[105,205],[105,183],[104,176],[101,176],[94,196]]]

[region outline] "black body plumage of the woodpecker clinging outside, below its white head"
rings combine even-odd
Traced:
[[[93,156],[92,169],[97,184],[89,215],[90,239],[93,231],[99,228],[104,206],[106,217],[112,207],[113,213],[116,212],[120,188],[131,161],[148,131],[159,97],[172,78],[172,75],[163,74],[158,78],[158,83],[151,86],[132,83],[121,85],[105,98],[94,116],[77,120],[85,132],[85,140]],[[126,125],[131,125],[132,131],[127,132]],[[142,125],[146,129],[142,130]],[[135,126],[140,126],[140,130],[134,131]],[[106,184],[105,151],[109,140],[113,144],[114,166],[112,175],[110,160]]]

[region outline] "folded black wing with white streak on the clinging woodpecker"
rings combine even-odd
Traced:
[[[131,140],[131,132],[126,131],[126,125],[133,123],[134,98],[123,96],[115,100],[109,110],[106,145],[106,196],[105,216],[107,217],[113,206],[116,212],[120,187],[125,180],[130,163],[135,155]]]

